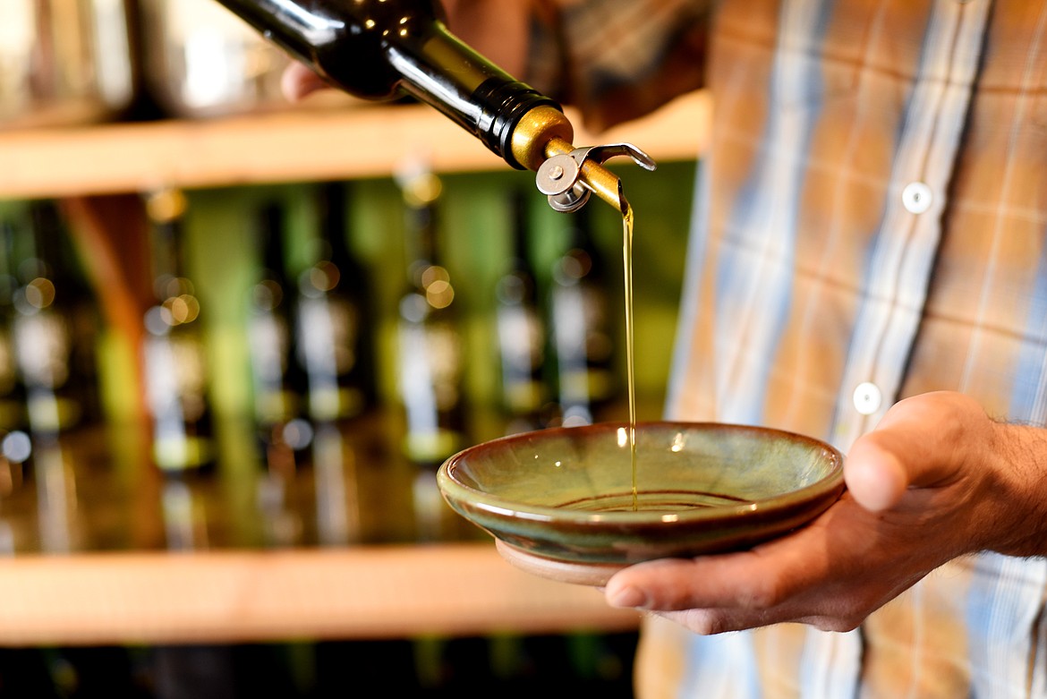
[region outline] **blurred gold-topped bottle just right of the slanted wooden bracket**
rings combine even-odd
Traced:
[[[172,474],[207,469],[215,459],[201,307],[183,261],[185,208],[184,194],[174,189],[147,201],[156,303],[144,319],[146,394],[153,456]]]

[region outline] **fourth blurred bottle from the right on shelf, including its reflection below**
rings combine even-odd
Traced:
[[[315,432],[316,537],[339,545],[359,535],[353,437],[377,403],[374,323],[369,270],[349,245],[348,186],[325,182],[316,195],[318,252],[298,276],[297,343]]]

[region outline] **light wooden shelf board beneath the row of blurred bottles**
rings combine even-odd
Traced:
[[[4,561],[0,645],[247,642],[637,628],[492,544],[32,556]]]

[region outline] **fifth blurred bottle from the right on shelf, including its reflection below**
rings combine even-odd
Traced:
[[[295,357],[295,290],[286,274],[283,206],[260,206],[254,224],[262,265],[249,295],[247,339],[254,428],[265,466],[258,499],[266,540],[287,546],[300,540],[295,481],[313,428],[304,415],[305,375]]]

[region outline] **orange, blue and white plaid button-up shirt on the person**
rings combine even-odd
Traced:
[[[562,4],[572,48],[536,75],[589,86],[566,97],[596,123],[703,69],[714,98],[671,416],[843,450],[930,390],[1047,422],[1047,3],[725,0],[708,22],[684,1]],[[650,622],[638,695],[1047,696],[1045,597],[1047,561],[982,554],[850,633]]]

